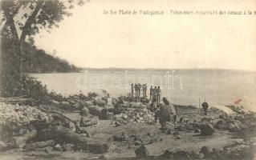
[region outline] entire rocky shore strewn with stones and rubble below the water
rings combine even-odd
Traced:
[[[197,107],[174,105],[177,122],[162,131],[148,102],[110,98],[106,91],[55,96],[38,106],[1,102],[0,158],[254,159],[254,112],[225,106],[234,111],[227,114],[211,106],[204,115]]]

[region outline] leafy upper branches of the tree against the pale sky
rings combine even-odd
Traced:
[[[18,30],[22,31],[20,42],[32,39],[40,29],[48,32],[65,16],[71,16],[75,5],[83,5],[83,0],[2,0],[1,11],[4,14],[1,22],[14,20]]]

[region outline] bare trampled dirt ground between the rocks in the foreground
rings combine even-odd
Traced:
[[[200,110],[178,110],[177,119],[188,118],[189,122],[200,121],[201,118],[218,119],[217,115],[199,114]],[[75,115],[75,114],[74,114]],[[73,115],[73,116],[74,116]],[[175,126],[179,126],[179,122]],[[87,127],[91,133],[91,138],[108,142],[110,152],[104,154],[108,159],[128,159],[135,158],[136,148],[144,146],[150,155],[159,156],[165,150],[196,150],[200,151],[202,146],[209,148],[222,148],[234,141],[238,141],[235,134],[228,131],[215,130],[210,136],[201,136],[194,130],[177,131],[176,134],[166,134],[160,130],[160,124],[144,124],[139,122],[129,122],[126,125],[115,126],[112,120],[100,120],[96,125]],[[123,140],[118,138],[123,137]],[[23,151],[21,149],[8,150],[0,155],[0,159],[98,159],[100,154],[89,154],[79,151]]]

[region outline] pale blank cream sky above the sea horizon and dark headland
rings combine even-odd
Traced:
[[[38,48],[80,67],[256,70],[256,15],[109,15],[104,10],[256,10],[246,1],[91,0]]]

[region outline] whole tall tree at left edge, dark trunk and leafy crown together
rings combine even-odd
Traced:
[[[11,97],[23,93],[26,41],[34,42],[40,30],[48,32],[66,16],[71,16],[75,5],[84,0],[1,0],[0,96]],[[4,25],[2,25],[4,24]],[[20,36],[18,36],[20,33]],[[29,82],[29,81],[28,81]]]

